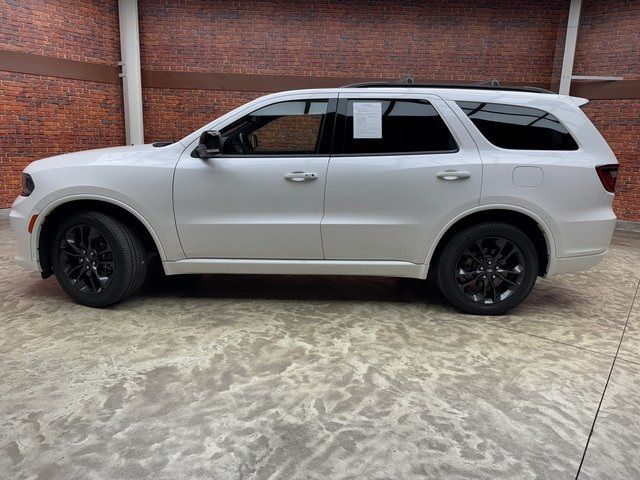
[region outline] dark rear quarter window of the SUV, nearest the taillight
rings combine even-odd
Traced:
[[[457,102],[491,143],[514,150],[577,150],[556,117],[543,110],[499,103]]]

